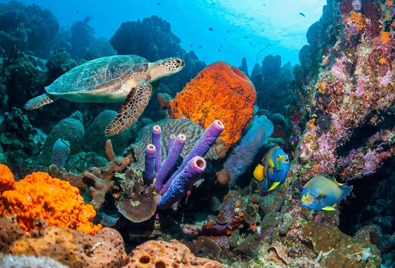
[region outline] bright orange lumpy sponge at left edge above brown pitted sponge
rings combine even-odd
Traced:
[[[0,172],[3,169],[5,166],[0,165]],[[1,172],[1,181],[4,181],[3,175]],[[94,234],[101,228],[100,224],[92,224],[96,211],[92,205],[83,203],[78,188],[44,172],[27,175],[15,182],[12,190],[1,190],[0,203],[3,203],[0,214],[17,214],[18,224],[25,232],[34,228],[36,217],[43,218],[50,226],[76,229],[87,234]]]

